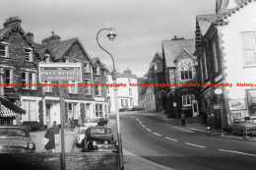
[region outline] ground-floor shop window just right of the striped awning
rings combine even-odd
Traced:
[[[23,121],[38,121],[37,106],[35,100],[23,100],[23,109],[26,110],[26,114],[22,115]]]

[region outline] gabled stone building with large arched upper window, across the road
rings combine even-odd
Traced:
[[[162,95],[166,99],[165,113],[177,118],[181,112],[187,117],[198,116],[199,88],[190,84],[198,83],[197,58],[193,55],[194,39],[177,38],[164,40],[162,45],[163,75],[165,87]]]

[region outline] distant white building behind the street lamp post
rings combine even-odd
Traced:
[[[111,75],[107,76],[108,84],[113,85]],[[118,94],[118,108],[133,108],[134,106],[138,106],[138,87],[137,86],[130,86],[130,84],[137,85],[137,78],[132,75],[130,69],[127,69],[121,73],[117,73],[117,84],[126,85],[118,87],[117,94]],[[106,89],[109,91],[107,93],[107,100],[108,100],[108,111],[110,113],[115,112],[115,100],[114,100],[114,87],[108,87]]]

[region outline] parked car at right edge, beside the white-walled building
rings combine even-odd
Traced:
[[[246,136],[246,130],[247,135],[256,135],[256,123],[254,123],[252,120],[235,120],[231,126],[231,129],[234,135]]]

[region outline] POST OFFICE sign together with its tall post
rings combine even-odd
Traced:
[[[81,63],[39,63],[39,83],[57,81],[59,84],[64,81],[75,81],[82,83]],[[63,87],[60,85],[60,122],[61,122],[61,169],[66,169],[65,162],[65,139],[64,139],[64,98]],[[44,110],[44,109],[43,109]]]

